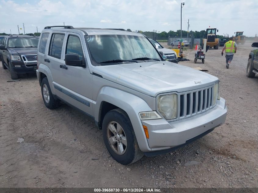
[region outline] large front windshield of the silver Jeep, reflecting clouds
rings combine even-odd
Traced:
[[[94,66],[162,61],[153,45],[142,36],[89,35],[85,41]]]

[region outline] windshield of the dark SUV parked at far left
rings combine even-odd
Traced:
[[[10,38],[8,41],[9,48],[28,48],[38,47],[39,38]]]

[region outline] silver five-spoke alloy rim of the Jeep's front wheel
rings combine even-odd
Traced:
[[[112,150],[118,155],[126,152],[127,140],[125,132],[121,125],[115,121],[111,121],[107,126],[107,139]]]

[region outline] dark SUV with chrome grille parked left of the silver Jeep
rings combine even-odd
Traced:
[[[18,74],[36,72],[38,40],[34,34],[5,37],[0,46],[2,65],[10,70],[12,79],[17,79]]]

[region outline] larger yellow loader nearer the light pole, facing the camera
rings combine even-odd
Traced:
[[[207,43],[206,45],[209,47],[213,47],[214,49],[218,49],[219,48],[219,41],[220,39],[217,38],[216,32],[218,32],[219,30],[217,30],[216,28],[208,28],[206,29],[206,33],[205,33],[205,37],[201,38],[201,45],[203,46],[203,40],[207,39]]]

